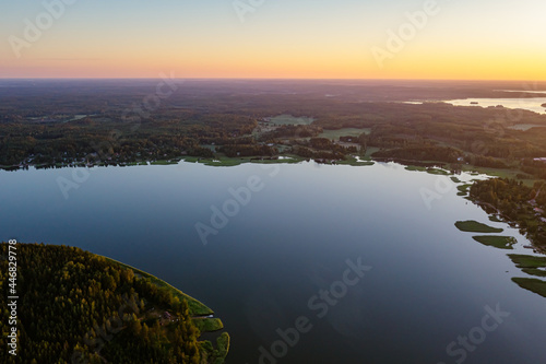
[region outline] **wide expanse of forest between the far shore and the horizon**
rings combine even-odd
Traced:
[[[541,127],[546,126],[546,115],[441,102],[405,103],[419,96],[429,101],[463,94],[506,97],[507,93],[495,90],[514,89],[508,84],[455,83],[438,89],[442,83],[190,80],[180,82],[169,98],[150,105],[146,92],[155,90],[153,80],[11,82],[16,86],[0,90],[0,167],[7,169],[127,165],[186,156],[295,154],[343,160],[373,148],[377,157],[463,162],[546,176],[545,165],[533,163],[546,156],[546,128]],[[265,122],[276,115],[314,121]],[[536,127],[517,128],[521,125]],[[332,140],[334,146],[311,145],[310,139],[322,131],[344,128],[363,129],[363,133],[351,145],[342,143],[343,136]]]

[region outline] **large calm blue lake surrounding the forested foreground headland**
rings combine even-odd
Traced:
[[[529,242],[448,180],[394,163],[2,171],[0,238],[166,280],[223,319],[233,364],[544,362],[546,298],[454,223]]]

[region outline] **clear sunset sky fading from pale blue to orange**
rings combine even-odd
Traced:
[[[546,81],[544,0],[0,0],[0,78]]]

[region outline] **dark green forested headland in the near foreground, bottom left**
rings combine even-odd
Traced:
[[[16,254],[25,363],[224,363],[227,332],[218,333],[215,348],[199,340],[223,329],[222,321],[164,281],[75,247],[17,244]],[[8,260],[2,243],[4,286]],[[9,321],[7,309],[1,316]],[[0,362],[8,356],[2,350]]]

